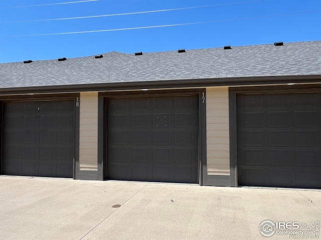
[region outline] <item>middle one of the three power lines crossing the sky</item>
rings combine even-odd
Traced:
[[[182,8],[171,8],[171,9],[162,9],[162,10],[150,10],[150,11],[137,11],[137,12],[126,12],[126,13],[115,13],[115,14],[105,14],[105,15],[95,15],[95,16],[76,16],[76,17],[39,19],[39,20],[5,21],[5,22],[0,22],[0,23],[54,21],[54,20],[70,20],[70,19],[93,18],[93,17],[106,17],[106,16],[121,16],[121,15],[142,14],[142,13],[151,13],[151,12],[176,11],[176,10],[185,10],[185,9],[205,8],[205,7],[211,7],[211,6],[232,5],[232,4],[241,4],[241,3],[249,3],[249,2],[256,2],[256,1],[264,1],[264,0],[239,1],[239,2],[230,2],[230,3],[222,3],[222,4],[214,4],[214,5],[205,5],[205,6],[191,6],[191,7],[182,7]]]

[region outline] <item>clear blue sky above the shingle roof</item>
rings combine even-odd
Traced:
[[[71,58],[110,51],[133,53],[321,40],[321,0],[91,0],[55,4],[73,1],[82,0],[0,0],[0,62]],[[12,22],[206,5],[216,6],[107,17]],[[204,21],[214,22],[26,36]]]

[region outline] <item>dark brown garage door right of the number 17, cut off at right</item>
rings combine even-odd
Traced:
[[[239,185],[321,187],[321,93],[237,96]]]

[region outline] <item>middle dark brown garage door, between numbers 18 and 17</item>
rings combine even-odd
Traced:
[[[198,182],[198,96],[108,98],[107,179]]]

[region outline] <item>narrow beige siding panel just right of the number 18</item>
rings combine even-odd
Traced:
[[[80,93],[80,170],[97,170],[98,92]]]

